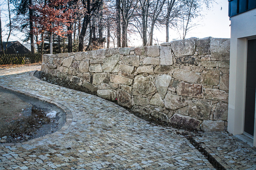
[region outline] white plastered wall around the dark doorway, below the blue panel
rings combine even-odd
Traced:
[[[228,132],[233,135],[244,131],[247,40],[250,38],[256,39],[256,8],[231,17]],[[256,146],[256,116],[253,145]]]

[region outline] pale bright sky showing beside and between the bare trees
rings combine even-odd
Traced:
[[[210,9],[204,8],[201,12],[202,17],[194,19],[194,22],[199,24],[196,28],[192,29],[187,35],[186,38],[197,37],[215,37],[215,38],[230,38],[230,20],[228,17],[228,0],[215,0],[216,3],[213,3]],[[3,8],[3,6],[1,6]],[[221,10],[222,9],[222,10]],[[1,13],[4,11],[1,11]],[[5,21],[8,18],[1,14],[2,26],[6,25]],[[8,29],[4,29],[2,33],[4,36],[4,41],[7,39]],[[16,32],[15,35],[11,35],[9,41],[20,41],[23,38],[22,33]],[[169,29],[169,41],[173,39],[180,39],[180,35],[177,30]],[[129,37],[128,37],[129,38]],[[154,39],[158,39],[158,43],[165,42],[166,34],[165,28],[162,30],[154,30]],[[153,41],[153,43],[156,43]],[[129,46],[141,46],[142,40],[140,35],[130,37]]]

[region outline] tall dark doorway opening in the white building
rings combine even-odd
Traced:
[[[248,43],[247,43],[244,132],[252,136],[254,135],[255,93],[256,93],[256,39],[251,39],[251,40],[248,40]]]

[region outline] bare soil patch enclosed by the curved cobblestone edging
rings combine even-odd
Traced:
[[[58,131],[65,122],[60,108],[0,88],[0,143],[42,137]]]

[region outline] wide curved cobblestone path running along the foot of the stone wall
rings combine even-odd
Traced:
[[[60,131],[0,144],[0,170],[208,170],[212,165],[174,129],[152,125],[107,100],[41,81],[31,70],[0,70],[0,86],[62,107]],[[25,72],[27,71],[27,72]]]

